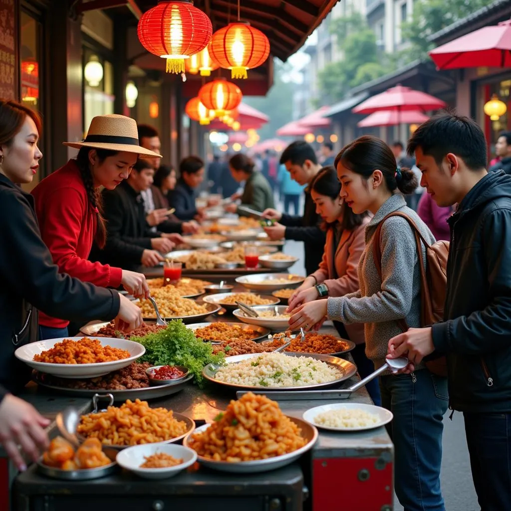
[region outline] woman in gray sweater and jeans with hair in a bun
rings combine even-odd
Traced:
[[[289,324],[292,330],[311,328],[324,317],[345,324],[365,323],[365,352],[378,368],[385,363],[389,339],[401,333],[397,320],[421,326],[421,281],[419,254],[408,222],[391,217],[382,225],[382,278],[373,259],[375,230],[385,216],[400,211],[415,221],[429,243],[435,239],[398,193],[415,190],[413,172],[397,168],[392,151],[379,138],[358,138],[341,150],[335,166],[346,204],[354,213],[374,215],[365,228],[366,247],[358,266],[360,290],[301,305]],[[424,246],[422,250],[425,261]],[[406,511],[444,511],[439,476],[447,379],[433,375],[423,363],[409,375],[386,371],[380,377],[380,390],[382,405],[394,414],[388,429],[396,448],[394,479],[399,501]]]

